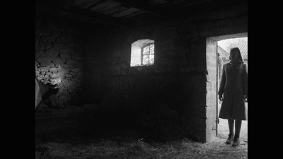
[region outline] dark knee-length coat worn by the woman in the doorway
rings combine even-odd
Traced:
[[[247,120],[248,71],[245,63],[224,64],[218,94],[223,94],[219,118]]]

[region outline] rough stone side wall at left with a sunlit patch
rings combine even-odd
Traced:
[[[83,84],[81,31],[69,26],[53,20],[35,25],[35,75],[58,85],[61,106],[79,105]]]

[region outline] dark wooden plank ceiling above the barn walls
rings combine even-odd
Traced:
[[[191,16],[246,1],[233,0],[37,0],[36,13],[88,22],[134,26]]]

